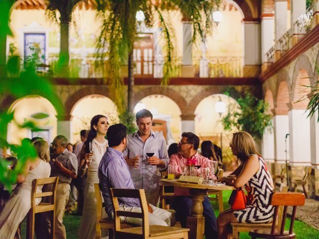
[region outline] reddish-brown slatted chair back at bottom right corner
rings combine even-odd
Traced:
[[[288,206],[293,206],[293,214],[291,217],[291,223],[289,228],[289,234],[293,234],[297,206],[305,205],[305,198],[306,198],[305,195],[302,193],[292,193],[292,192],[289,192],[289,193],[279,192],[279,193],[274,193],[272,195],[271,205],[275,206],[275,213],[274,213],[273,225],[271,228],[271,234],[275,234],[277,216],[279,213],[280,206],[284,206],[284,210],[283,210],[282,222],[278,224],[278,227],[279,227],[278,232],[280,232],[280,235],[284,235],[285,223],[287,218],[287,208]]]

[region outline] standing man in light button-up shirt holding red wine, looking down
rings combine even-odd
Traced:
[[[148,202],[157,206],[160,199],[160,170],[167,167],[169,158],[164,136],[151,129],[152,120],[152,113],[146,109],[136,113],[139,130],[128,135],[124,155],[127,156],[126,162],[135,187],[143,188]]]

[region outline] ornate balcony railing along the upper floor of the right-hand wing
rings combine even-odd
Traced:
[[[268,62],[274,62],[275,51],[280,51],[281,55],[285,54],[293,47],[301,38],[303,38],[311,30],[311,20],[313,18],[313,7],[310,6],[304,14],[302,14],[292,27],[278,40],[267,53]]]

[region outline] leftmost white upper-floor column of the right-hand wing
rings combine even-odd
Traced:
[[[263,14],[261,18],[261,59],[263,63],[263,68],[264,68],[264,64],[268,62],[266,53],[270,50],[270,48],[273,47],[274,44],[275,44],[274,14],[273,13]]]

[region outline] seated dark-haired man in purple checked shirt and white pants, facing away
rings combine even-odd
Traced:
[[[109,218],[113,218],[112,199],[110,188],[135,189],[129,167],[124,159],[123,151],[127,146],[127,127],[114,124],[107,132],[109,147],[103,155],[98,175],[100,189],[105,202],[105,211]],[[121,210],[141,212],[140,202],[136,198],[119,198]],[[170,226],[171,213],[149,204],[150,225]],[[142,225],[142,220],[137,218],[121,217],[121,220],[135,225]]]

